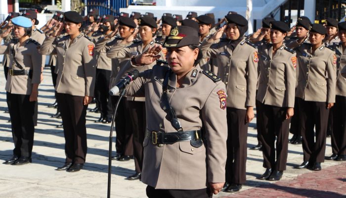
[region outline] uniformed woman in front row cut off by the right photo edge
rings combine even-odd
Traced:
[[[346,78],[341,75],[341,71],[346,64],[346,22],[338,24],[339,39],[338,45],[333,45],[337,56],[337,83],[336,97],[333,107],[333,133],[332,133],[332,151],[331,156],[326,156],[328,160],[346,160]]]

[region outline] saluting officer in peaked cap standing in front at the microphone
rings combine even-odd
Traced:
[[[195,29],[174,27],[163,45],[170,67],[156,65],[127,87],[146,100],[142,182],[149,198],[210,198],[224,183],[226,90],[198,66],[198,44]],[[132,65],[152,64],[160,49],[132,57]]]

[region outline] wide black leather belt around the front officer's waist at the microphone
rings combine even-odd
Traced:
[[[147,129],[145,137],[151,139],[153,145],[172,145],[176,142],[195,141],[202,139],[201,130],[163,133],[149,131]]]

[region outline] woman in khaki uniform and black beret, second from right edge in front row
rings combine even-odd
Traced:
[[[337,70],[335,51],[326,48],[322,42],[326,34],[323,25],[312,24],[311,44],[304,43],[296,48],[300,65],[296,97],[299,98],[304,153],[303,163],[296,166],[300,169],[309,167],[319,171],[324,161],[328,114],[335,103]]]

